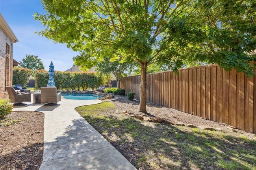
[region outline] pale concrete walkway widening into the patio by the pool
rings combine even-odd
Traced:
[[[28,104],[13,108],[45,113],[44,156],[39,170],[136,170],[74,110],[101,102],[61,99],[57,106]]]

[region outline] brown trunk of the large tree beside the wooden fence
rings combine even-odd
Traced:
[[[147,102],[147,61],[141,64],[141,84],[140,84],[140,103],[139,112],[147,112],[146,102]]]

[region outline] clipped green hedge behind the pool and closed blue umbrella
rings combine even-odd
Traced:
[[[34,74],[37,89],[47,85],[49,75],[46,70],[37,70]],[[58,90],[95,89],[105,84],[105,77],[100,73],[91,72],[61,72],[55,71],[54,81]]]

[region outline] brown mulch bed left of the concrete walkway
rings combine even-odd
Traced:
[[[44,113],[11,112],[0,119],[0,170],[38,170],[43,139]]]

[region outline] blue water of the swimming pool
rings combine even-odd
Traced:
[[[88,93],[61,93],[65,99],[75,99],[75,100],[94,100],[102,98],[103,96],[88,94]]]

